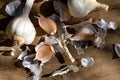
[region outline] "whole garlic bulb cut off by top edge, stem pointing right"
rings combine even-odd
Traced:
[[[69,12],[73,17],[85,17],[92,10],[101,8],[108,11],[109,6],[101,4],[96,0],[68,0]]]

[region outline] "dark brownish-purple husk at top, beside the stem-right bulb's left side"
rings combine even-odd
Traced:
[[[68,8],[60,0],[54,1],[54,9],[60,16],[60,21],[68,21],[71,18],[71,15],[68,11]]]

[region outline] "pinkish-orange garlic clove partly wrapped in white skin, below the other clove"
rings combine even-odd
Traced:
[[[49,61],[54,55],[55,51],[49,43],[41,42],[35,47],[36,50],[36,56],[34,60],[41,61],[42,63],[45,63]]]

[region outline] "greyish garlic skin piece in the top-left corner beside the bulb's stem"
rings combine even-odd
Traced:
[[[21,2],[19,0],[15,0],[13,2],[10,2],[6,5],[5,11],[7,12],[7,14],[9,14],[10,16],[15,16],[15,11],[17,10],[17,8],[20,6]]]

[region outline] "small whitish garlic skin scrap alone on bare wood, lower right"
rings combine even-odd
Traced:
[[[82,58],[81,59],[81,65],[83,67],[89,67],[95,63],[94,59],[92,57]]]

